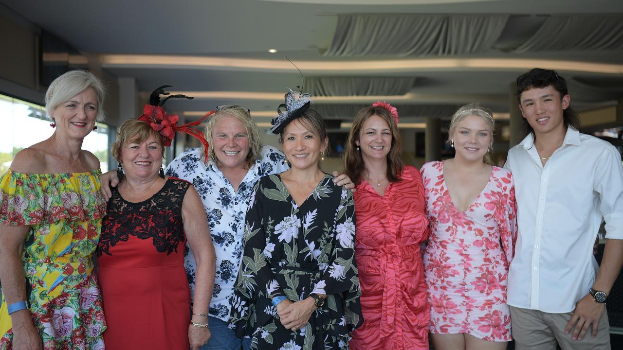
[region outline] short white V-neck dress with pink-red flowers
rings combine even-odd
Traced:
[[[424,254],[430,332],[510,341],[506,285],[517,232],[513,177],[493,166],[482,192],[460,212],[443,171],[439,161],[422,167],[430,222]]]

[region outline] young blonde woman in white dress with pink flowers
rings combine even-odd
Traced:
[[[516,239],[510,171],[489,165],[493,116],[476,103],[452,116],[454,158],[422,167],[430,237],[424,254],[435,350],[506,349],[506,277]]]

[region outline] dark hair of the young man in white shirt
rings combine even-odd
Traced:
[[[521,104],[521,93],[526,90],[530,90],[531,88],[546,88],[550,85],[554,88],[554,90],[558,91],[561,99],[564,95],[569,94],[567,82],[563,77],[558,75],[555,70],[534,68],[530,70],[530,72],[523,73],[517,77],[517,100]],[[526,118],[522,119],[526,133],[531,133],[532,136],[535,136],[536,138],[535,130],[532,126],[530,126],[528,120],[526,120]],[[563,110],[563,123],[565,127],[571,125],[576,130],[579,130],[580,128],[579,115],[571,108],[571,106],[568,106]]]

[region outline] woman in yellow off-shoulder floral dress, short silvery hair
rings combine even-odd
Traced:
[[[81,149],[104,95],[90,72],[57,77],[45,93],[54,133],[0,177],[0,349],[104,348],[93,252],[106,204],[100,161]]]

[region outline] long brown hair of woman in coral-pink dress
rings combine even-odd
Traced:
[[[363,128],[363,123],[368,120],[370,116],[378,115],[388,123],[389,130],[391,130],[391,148],[387,156],[388,161],[388,181],[397,182],[400,181],[400,173],[404,169],[404,162],[402,161],[402,136],[398,131],[394,116],[383,107],[367,106],[361,108],[357,116],[353,121],[353,128],[348,135],[348,142],[346,143],[346,151],[344,153],[344,172],[355,184],[359,184],[363,179],[363,171],[365,170],[365,164],[363,158],[361,158],[361,151],[358,151],[356,141],[359,141],[359,133]]]

